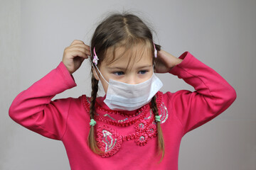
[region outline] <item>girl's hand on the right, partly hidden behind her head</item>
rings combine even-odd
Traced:
[[[166,73],[169,72],[174,66],[180,64],[183,60],[174,57],[164,50],[157,52],[155,72]]]

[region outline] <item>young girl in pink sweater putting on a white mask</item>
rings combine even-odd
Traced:
[[[72,74],[85,59],[92,63],[91,97],[51,101],[77,86]],[[196,91],[163,94],[154,72],[176,75]],[[71,169],[178,169],[183,135],[235,98],[233,87],[190,52],[174,57],[154,44],[140,18],[117,13],[97,26],[90,47],[80,40],[66,47],[58,67],[16,96],[9,115],[61,140]]]

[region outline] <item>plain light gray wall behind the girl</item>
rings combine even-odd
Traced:
[[[70,169],[62,142],[14,123],[9,106],[18,93],[58,66],[73,40],[88,44],[97,23],[113,10],[142,16],[156,30],[154,41],[164,50],[176,57],[191,52],[237,91],[227,111],[183,137],[179,169],[256,169],[255,0],[0,3],[0,169]],[[73,76],[78,86],[55,98],[90,95],[87,61]],[[193,91],[177,77],[159,77],[161,91]]]

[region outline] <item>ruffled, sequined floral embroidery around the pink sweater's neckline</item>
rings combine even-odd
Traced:
[[[159,108],[159,115],[161,115],[160,123],[162,124],[166,122],[169,114],[166,106],[161,101],[161,95],[162,94],[159,93],[156,100],[157,107]],[[87,102],[88,101],[89,100],[87,100]],[[90,104],[84,104],[87,111],[89,111]],[[143,106],[143,108],[137,114],[132,116],[122,115],[122,113],[119,114],[116,112],[117,114],[121,115],[118,117],[111,113],[111,110],[108,112],[104,111],[103,113],[104,114],[102,115],[98,113],[95,115],[95,120],[99,120],[100,122],[107,124],[99,124],[96,126],[97,145],[104,153],[102,154],[102,157],[111,157],[112,155],[116,154],[119,151],[122,142],[133,140],[134,145],[145,146],[150,139],[157,136],[155,116],[149,105]],[[122,116],[126,118],[122,118]],[[113,125],[113,127],[110,128],[109,125]],[[133,126],[134,132],[120,135],[119,132],[114,129],[114,126]]]

